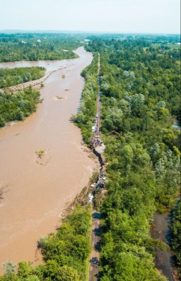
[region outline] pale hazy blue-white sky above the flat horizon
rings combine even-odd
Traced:
[[[180,0],[0,0],[0,30],[180,34]]]

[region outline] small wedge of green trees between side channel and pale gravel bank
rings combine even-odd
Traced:
[[[0,68],[0,89],[40,79],[44,74],[44,67]]]

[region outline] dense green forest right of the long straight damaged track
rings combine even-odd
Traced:
[[[160,52],[142,39],[96,39],[87,49],[100,52],[109,163],[100,280],[166,280],[154,268],[154,249],[164,245],[149,228],[156,209],[173,208],[180,187],[180,132],[172,126],[180,120],[180,49]],[[121,138],[108,136],[112,130]]]

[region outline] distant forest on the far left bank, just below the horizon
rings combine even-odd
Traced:
[[[0,34],[0,62],[77,58],[72,50],[85,36],[69,34]]]

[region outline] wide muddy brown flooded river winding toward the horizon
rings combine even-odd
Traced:
[[[36,261],[37,240],[55,230],[65,204],[88,183],[96,166],[81,145],[80,130],[69,122],[79,107],[81,70],[93,59],[83,47],[76,53],[80,58],[0,64],[41,65],[48,71],[62,67],[43,82],[44,100],[37,111],[0,131],[0,263]],[[42,159],[39,150],[44,151]]]

